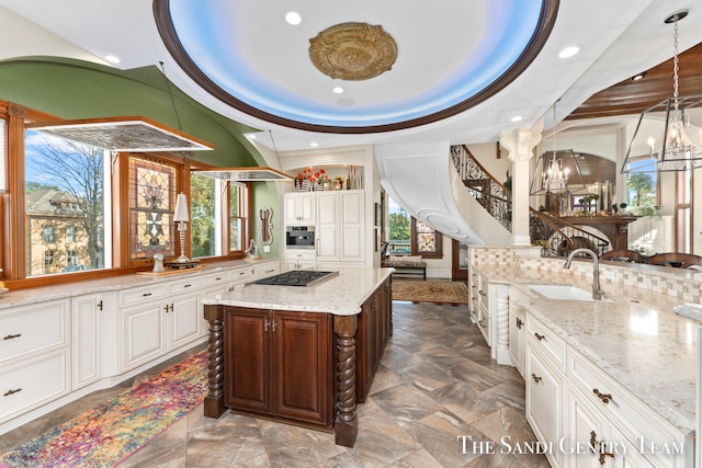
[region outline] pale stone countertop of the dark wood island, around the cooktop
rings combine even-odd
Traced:
[[[234,292],[203,300],[203,304],[256,309],[326,312],[354,316],[393,269],[339,267],[339,275],[310,287],[247,284]]]

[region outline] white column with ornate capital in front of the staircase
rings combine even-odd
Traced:
[[[512,161],[512,246],[530,246],[529,236],[529,161],[532,149],[541,141],[543,119],[531,128],[500,134],[500,145]]]

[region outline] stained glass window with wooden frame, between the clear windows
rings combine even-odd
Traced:
[[[132,260],[176,255],[176,168],[129,158],[129,251]]]

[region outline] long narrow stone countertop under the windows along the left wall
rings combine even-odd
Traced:
[[[0,312],[12,307],[44,303],[47,300],[66,299],[86,294],[104,293],[128,289],[132,287],[148,286],[163,282],[206,275],[227,270],[236,270],[248,266],[264,265],[270,262],[280,262],[279,259],[250,262],[246,260],[233,260],[204,264],[205,267],[197,271],[183,271],[182,273],[166,276],[147,276],[127,274],[110,276],[100,279],[87,279],[75,283],[56,284],[52,286],[31,287],[26,289],[10,290],[0,295]]]

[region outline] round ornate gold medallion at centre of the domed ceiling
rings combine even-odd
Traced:
[[[383,26],[342,23],[309,39],[309,59],[322,73],[341,80],[375,78],[393,68],[397,44]]]

